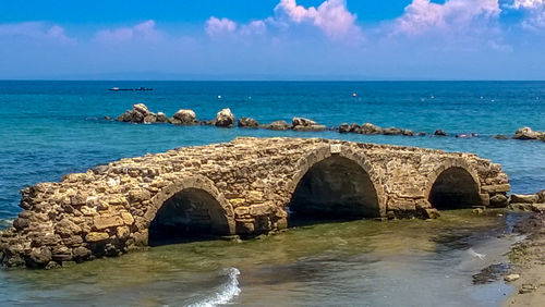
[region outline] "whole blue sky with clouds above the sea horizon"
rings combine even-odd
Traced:
[[[545,79],[545,0],[0,0],[1,79]]]

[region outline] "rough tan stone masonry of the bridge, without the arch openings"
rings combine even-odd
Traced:
[[[23,189],[24,211],[0,233],[0,260],[8,267],[55,267],[146,245],[158,209],[186,188],[218,201],[229,234],[283,229],[299,181],[332,155],[370,175],[382,217],[425,217],[433,183],[452,167],[472,175],[484,206],[510,188],[500,165],[470,154],[318,138],[237,138],[121,159]]]

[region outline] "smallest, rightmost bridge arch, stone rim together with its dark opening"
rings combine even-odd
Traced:
[[[432,207],[461,209],[482,205],[481,182],[476,172],[463,160],[448,160],[428,176],[425,189]]]

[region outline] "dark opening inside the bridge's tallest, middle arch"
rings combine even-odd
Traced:
[[[370,175],[355,161],[331,156],[304,174],[289,204],[290,223],[380,217]]]

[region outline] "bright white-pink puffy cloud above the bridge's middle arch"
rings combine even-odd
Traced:
[[[355,25],[356,15],[350,13],[344,0],[326,0],[317,9],[299,5],[295,0],[281,0],[275,13],[296,24],[311,23],[329,37],[360,34],[361,30]]]

